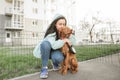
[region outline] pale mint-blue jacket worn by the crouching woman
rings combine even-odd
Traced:
[[[71,36],[69,37],[69,40],[70,40],[70,42],[72,43],[72,45],[75,45],[75,44],[76,44],[76,39],[75,39],[75,36],[74,36],[74,35],[71,35]],[[63,41],[63,40],[61,40],[61,39],[56,40],[56,33],[49,34],[48,36],[46,36],[42,41],[40,41],[40,42],[35,46],[35,48],[34,48],[34,50],[33,50],[33,55],[34,55],[36,58],[41,58],[41,51],[40,51],[41,46],[40,46],[40,44],[41,44],[43,41],[49,41],[53,50],[59,49],[59,48],[61,48],[61,47],[64,45],[64,41]]]

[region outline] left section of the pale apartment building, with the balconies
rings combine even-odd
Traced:
[[[0,7],[1,45],[21,43],[17,39],[24,29],[24,1],[1,0],[0,5],[2,6]]]

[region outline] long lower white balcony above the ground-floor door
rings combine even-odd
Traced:
[[[5,21],[6,30],[23,30],[24,26],[23,23],[14,22],[12,23],[10,20]]]

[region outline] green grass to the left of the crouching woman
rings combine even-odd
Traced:
[[[26,49],[28,52],[32,49]],[[0,80],[38,71],[40,60],[25,48],[0,49]],[[23,54],[23,52],[27,52]]]

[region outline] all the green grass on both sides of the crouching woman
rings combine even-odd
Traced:
[[[78,61],[84,61],[114,54],[120,51],[120,45],[84,45],[75,49]],[[36,59],[32,51],[29,47],[0,47],[0,80],[38,72],[41,60]]]

